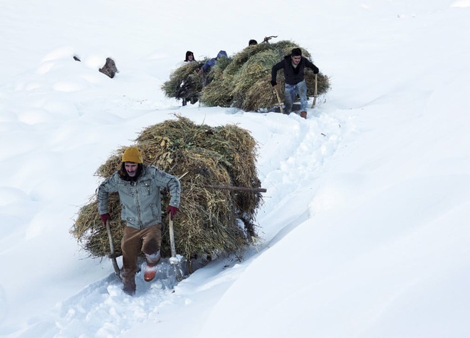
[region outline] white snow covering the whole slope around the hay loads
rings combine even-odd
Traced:
[[[469,0],[1,1],[0,336],[470,337],[469,31]],[[331,78],[306,121],[164,96],[272,35]],[[256,138],[260,241],[129,297],[69,230],[175,113]]]

